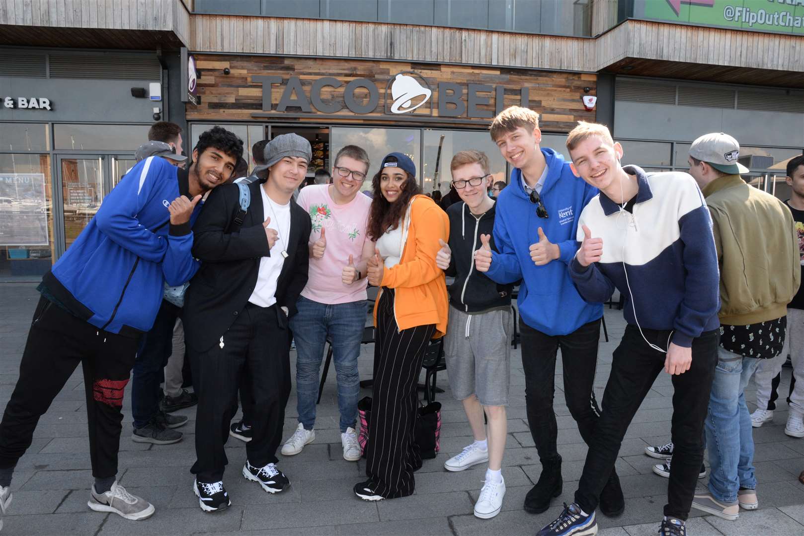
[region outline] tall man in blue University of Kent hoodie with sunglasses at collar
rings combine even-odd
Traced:
[[[593,448],[600,409],[593,392],[603,306],[584,301],[569,278],[575,256],[578,215],[597,190],[572,174],[553,149],[539,147],[539,114],[512,106],[494,118],[491,139],[513,166],[498,197],[494,242],[498,252],[478,249],[475,266],[499,284],[519,280],[519,333],[525,373],[527,424],[539,452],[542,473],[525,497],[525,509],[541,513],[561,493],[561,456],[553,411],[556,353],[564,362],[564,397],[580,435]],[[617,473],[601,509],[616,516],[625,509]]]

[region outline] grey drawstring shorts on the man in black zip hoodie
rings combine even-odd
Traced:
[[[444,353],[456,399],[478,395],[484,406],[508,405],[511,309],[467,314],[450,305]]]

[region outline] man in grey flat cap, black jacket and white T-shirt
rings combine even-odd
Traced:
[[[245,214],[239,185],[227,185],[213,191],[195,224],[192,252],[203,264],[187,290],[183,321],[199,395],[191,473],[205,512],[231,504],[224,443],[240,381],[248,383],[242,402],[252,426],[243,476],[268,493],[290,484],[276,452],[290,394],[288,317],[307,283],[310,239],[310,217],[291,195],[311,154],[303,137],[275,137],[265,146],[268,178],[248,184]]]

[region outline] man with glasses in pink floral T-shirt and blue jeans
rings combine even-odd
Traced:
[[[315,439],[318,370],[326,341],[338,380],[343,459],[360,459],[355,424],[360,378],[357,358],[366,325],[366,261],[374,241],[366,238],[371,199],[359,195],[368,173],[365,150],[347,145],[338,151],[332,184],[302,189],[296,203],[310,216],[310,278],[290,320],[296,342],[298,427],[282,454],[293,456]]]

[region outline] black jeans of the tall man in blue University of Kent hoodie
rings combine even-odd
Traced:
[[[597,368],[597,342],[600,340],[601,321],[581,325],[568,335],[551,336],[519,320],[522,341],[522,367],[525,372],[525,403],[527,425],[539,452],[539,460],[558,459],[556,413],[553,396],[556,386],[556,353],[561,349],[564,362],[564,397],[572,418],[578,423],[580,436],[592,445],[597,416],[593,384]]]

